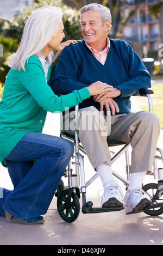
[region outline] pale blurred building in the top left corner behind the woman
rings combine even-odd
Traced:
[[[15,14],[20,13],[24,6],[31,7],[33,0],[1,0],[0,1],[0,18],[9,19]]]

